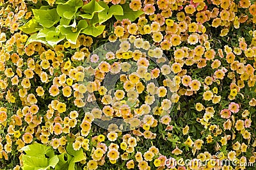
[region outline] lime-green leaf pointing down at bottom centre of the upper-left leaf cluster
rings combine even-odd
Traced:
[[[66,36],[66,39],[70,43],[76,44],[77,37],[79,33],[88,26],[86,20],[79,20],[77,27],[74,27],[72,24],[71,26],[61,26],[60,32],[61,34]]]

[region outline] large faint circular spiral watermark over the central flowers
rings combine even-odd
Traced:
[[[172,109],[176,83],[168,58],[142,38],[105,43],[83,67],[81,105],[99,127],[128,131],[152,125],[159,106],[160,116]]]

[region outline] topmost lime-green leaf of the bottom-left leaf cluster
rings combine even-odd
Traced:
[[[45,146],[44,144],[34,143],[24,146],[23,148],[20,149],[20,151],[25,151],[25,153],[28,154],[29,156],[36,157],[39,155],[46,154],[50,149],[51,147]]]

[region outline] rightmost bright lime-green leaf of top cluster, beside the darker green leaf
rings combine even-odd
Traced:
[[[123,8],[119,4],[115,4],[108,7],[104,1],[99,1],[100,6],[105,8],[102,12],[99,12],[99,24],[102,24],[106,20],[110,19],[113,15],[124,15]]]

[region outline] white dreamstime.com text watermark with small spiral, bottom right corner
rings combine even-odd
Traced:
[[[187,167],[223,167],[223,166],[232,166],[232,167],[253,167],[252,162],[240,162],[238,159],[228,160],[224,158],[222,152],[217,152],[214,157],[208,158],[205,160],[201,160],[198,158],[194,159],[175,159],[175,158],[168,158],[165,160],[165,165],[169,168],[173,168],[176,166],[187,166]]]

